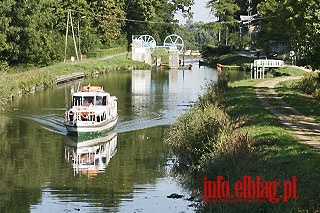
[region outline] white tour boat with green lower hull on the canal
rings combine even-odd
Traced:
[[[68,134],[108,131],[118,121],[117,98],[100,86],[83,86],[72,94],[71,108],[65,115]]]

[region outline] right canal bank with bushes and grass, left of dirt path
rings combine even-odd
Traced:
[[[286,69],[288,72],[297,72],[294,75],[299,75],[297,70]],[[277,117],[262,106],[254,92],[255,85],[259,81],[245,80],[232,83],[227,90],[224,90],[225,95],[222,98],[225,98],[218,101],[218,104],[215,98],[218,94],[214,89],[209,89],[206,94],[209,98],[204,99],[207,107],[193,109],[196,112],[187,113],[173,125],[166,141],[171,144],[174,154],[179,159],[175,175],[200,199],[204,193],[202,183],[204,177],[216,180],[217,176],[224,176],[232,187],[232,184],[242,180],[243,176],[250,176],[253,179],[260,176],[262,180],[276,180],[280,183],[296,176],[298,198],[289,199],[288,202],[280,199],[279,202],[267,201],[266,203],[201,204],[198,207],[200,212],[316,212],[320,209],[318,183],[320,155],[307,145],[300,143],[297,137],[280,124]],[[300,96],[298,93],[292,95],[293,100]],[[309,100],[307,96],[304,98],[302,101]],[[200,102],[203,103],[203,100],[200,99]],[[218,106],[217,109],[212,109],[214,106]],[[311,106],[313,109],[318,107],[318,105]],[[212,120],[208,114],[205,114],[209,108]],[[226,114],[217,116],[219,115],[217,112],[221,110]],[[195,115],[199,117],[205,115],[206,120],[209,120],[201,124],[202,128],[199,130],[191,125],[194,124],[191,121],[198,120],[194,118]],[[213,134],[212,126],[214,127],[217,123],[223,124],[222,121],[226,118],[233,124],[232,131],[230,132],[230,125],[219,125],[220,131]],[[211,125],[206,126],[205,124],[208,123]],[[186,131],[185,128],[193,131]],[[193,137],[197,135],[195,133],[200,132],[207,137]],[[221,143],[222,139],[226,139],[227,142]],[[186,141],[188,141],[188,148],[184,145]],[[238,142],[235,143],[236,141]],[[205,144],[205,146],[201,147],[199,144]],[[200,155],[198,160],[188,157],[188,153],[194,156],[192,153],[194,151]],[[183,155],[182,159],[180,155]],[[282,192],[283,186],[280,185],[277,187],[278,198]]]

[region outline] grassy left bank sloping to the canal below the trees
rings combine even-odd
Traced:
[[[27,71],[7,71],[0,78],[0,105],[17,95],[34,92],[37,89],[54,86],[56,78],[73,72],[84,72],[86,76],[102,74],[110,71],[128,69],[148,69],[149,65],[132,61],[127,55],[120,55],[104,60],[89,58],[82,61],[58,63],[43,68]]]

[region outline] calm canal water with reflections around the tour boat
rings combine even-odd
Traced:
[[[82,141],[63,126],[78,83],[16,98],[0,113],[0,212],[193,212],[195,201],[170,175],[163,137],[218,78],[194,63],[85,79],[118,97],[119,122]]]

